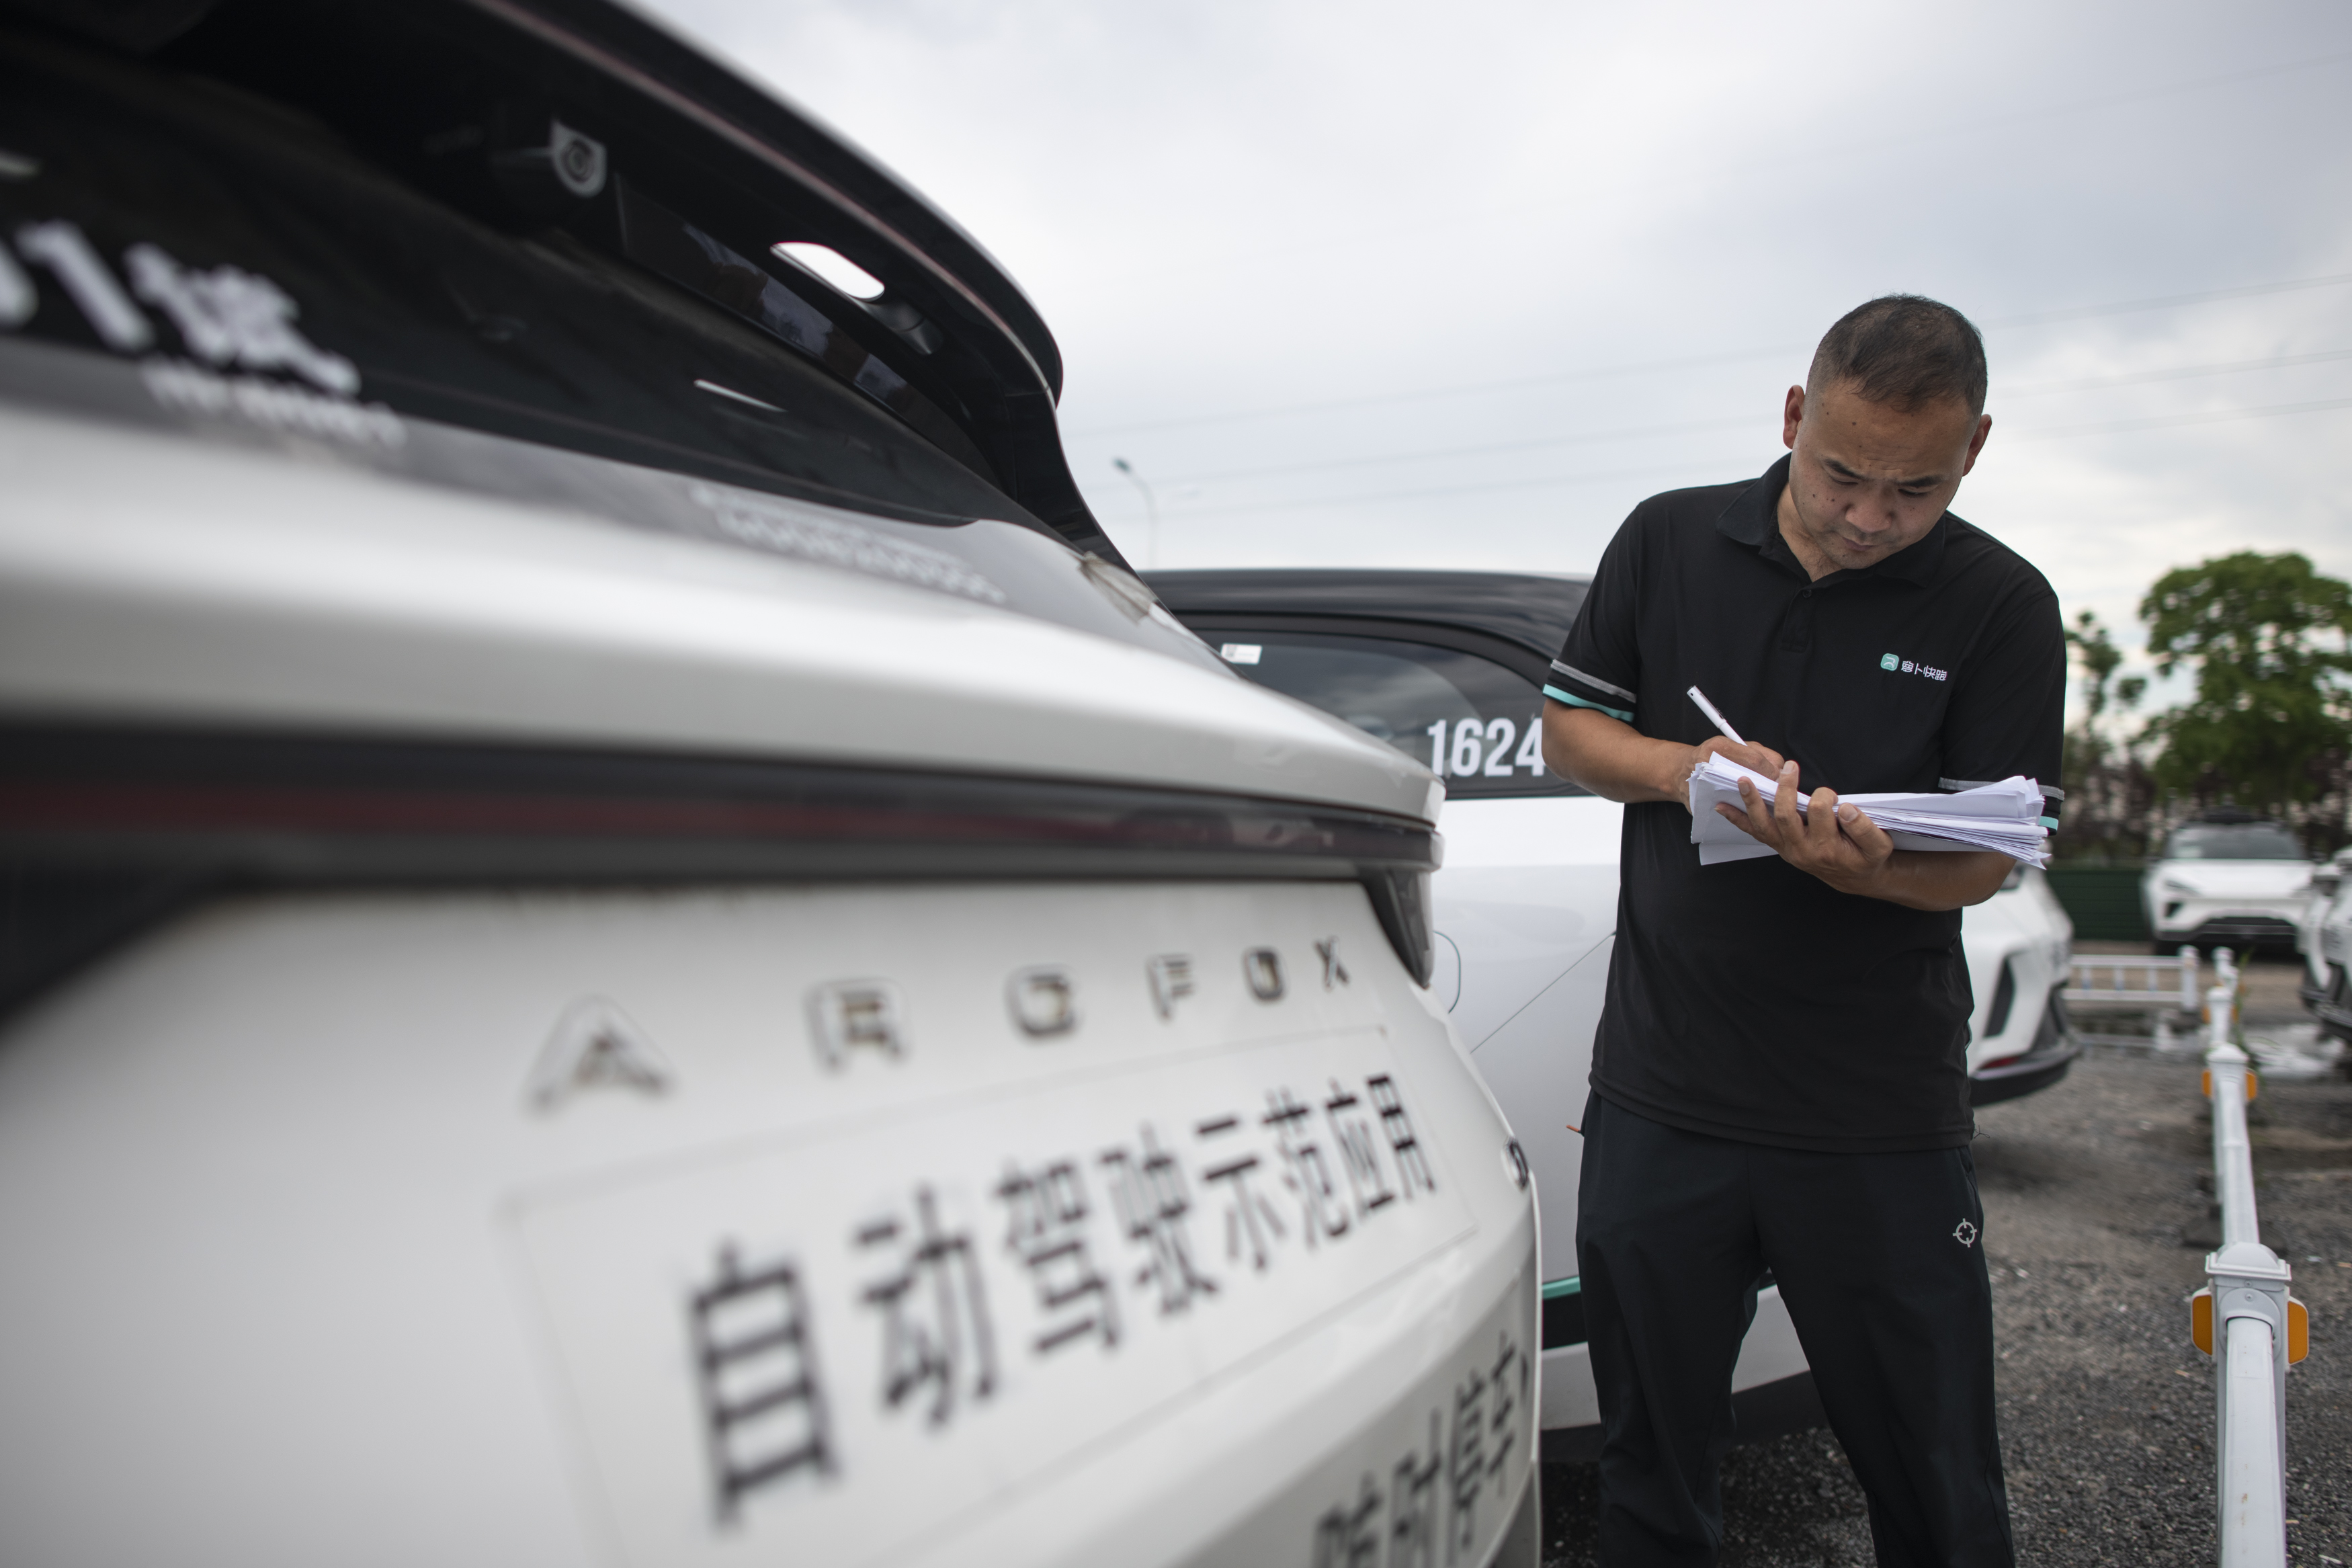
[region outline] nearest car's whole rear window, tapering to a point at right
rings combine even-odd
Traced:
[[[430,110],[419,125],[442,127]],[[534,134],[569,134],[532,113]],[[275,99],[0,26],[0,402],[691,534],[1214,663],[1000,489],[931,395],[953,397],[943,371],[922,371],[931,393],[910,378],[913,339],[934,339],[877,353],[896,329],[844,329],[856,306],[818,308],[786,261],[720,240],[708,195],[593,153],[590,219],[494,221],[456,165],[487,181],[496,129],[419,132],[395,167]]]

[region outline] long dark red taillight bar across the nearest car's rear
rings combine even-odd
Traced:
[[[1437,837],[1112,783],[268,733],[0,731],[0,1009],[242,889],[1359,882],[1418,983]]]

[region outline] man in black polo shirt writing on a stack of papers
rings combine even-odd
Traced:
[[[1788,393],[1790,456],[1635,508],[1545,686],[1545,762],[1625,802],[1576,1237],[1611,1568],[1715,1561],[1766,1269],[1879,1563],[2013,1561],[1959,947],[2011,860],[1898,851],[1837,797],[2058,778],[2058,602],[1945,510],[1983,407],[1966,317],[1860,306]],[[1778,776],[1724,809],[1773,856],[1700,867],[1708,752]]]

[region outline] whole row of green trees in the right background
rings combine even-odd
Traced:
[[[2157,675],[2194,693],[2140,717],[2112,632],[2082,611],[2067,649],[2084,710],[2065,743],[2058,853],[2138,860],[2211,806],[2274,816],[2326,856],[2352,837],[2352,585],[2303,555],[2239,550],[2157,578],[2140,599]]]

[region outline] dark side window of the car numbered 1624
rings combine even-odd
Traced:
[[[1322,632],[1211,632],[1240,675],[1355,724],[1446,780],[1446,795],[1578,795],[1543,766],[1543,691],[1512,670],[1421,642]]]

